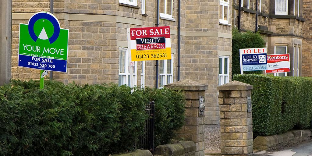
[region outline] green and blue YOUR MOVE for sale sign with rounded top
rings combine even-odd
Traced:
[[[68,29],[50,12],[38,12],[20,24],[18,66],[67,71]]]

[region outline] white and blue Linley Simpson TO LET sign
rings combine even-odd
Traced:
[[[267,69],[266,48],[240,49],[242,71],[263,71]]]

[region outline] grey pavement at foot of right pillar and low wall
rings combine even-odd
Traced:
[[[221,151],[205,150],[205,156],[221,155]],[[276,151],[254,152],[253,156],[312,156],[312,141],[304,142],[292,147],[285,147]]]

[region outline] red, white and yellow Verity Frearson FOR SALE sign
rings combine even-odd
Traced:
[[[171,59],[170,27],[128,29],[131,61]]]

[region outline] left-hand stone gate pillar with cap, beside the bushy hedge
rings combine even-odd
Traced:
[[[168,85],[167,88],[178,88],[185,91],[185,119],[181,130],[177,132],[178,137],[192,140],[196,144],[196,156],[204,156],[204,108],[205,92],[207,85],[184,79]]]

